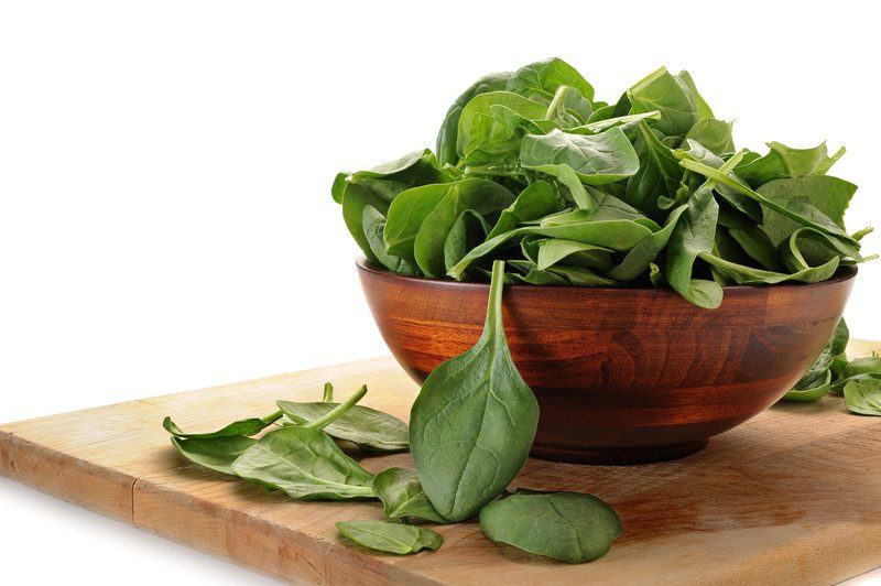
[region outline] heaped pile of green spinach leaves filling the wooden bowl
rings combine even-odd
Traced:
[[[844,215],[857,187],[826,143],[735,146],[687,72],[614,102],[559,58],[490,74],[450,106],[436,152],[333,184],[367,259],[405,275],[670,286],[715,308],[729,284],[814,283],[867,260]]]

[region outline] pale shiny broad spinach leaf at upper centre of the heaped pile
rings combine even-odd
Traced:
[[[640,167],[637,152],[620,128],[589,135],[561,130],[542,135],[526,134],[520,149],[520,162],[535,171],[567,165],[588,185],[620,181]]]

